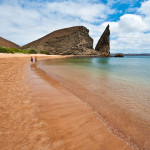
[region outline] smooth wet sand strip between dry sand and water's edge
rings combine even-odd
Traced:
[[[51,139],[51,149],[131,149],[112,135],[84,102],[35,65],[29,68],[29,82],[37,116],[45,122]]]

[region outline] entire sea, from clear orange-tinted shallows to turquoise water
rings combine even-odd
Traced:
[[[40,62],[115,135],[150,149],[150,57],[66,58]]]

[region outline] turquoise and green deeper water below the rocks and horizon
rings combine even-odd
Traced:
[[[92,69],[93,73],[109,74],[120,80],[130,80],[150,87],[150,56],[66,58],[53,60],[50,63],[86,67]]]

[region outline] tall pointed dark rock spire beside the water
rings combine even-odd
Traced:
[[[109,36],[110,36],[110,30],[108,25],[95,47],[95,50],[98,51],[101,56],[110,56]]]

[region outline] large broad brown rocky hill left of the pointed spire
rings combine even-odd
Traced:
[[[54,31],[25,46],[40,51],[48,51],[55,55],[95,55],[93,39],[84,26],[76,26]]]

